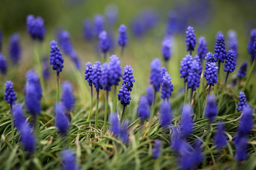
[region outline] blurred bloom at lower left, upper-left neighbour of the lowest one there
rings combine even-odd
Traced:
[[[13,108],[13,117],[15,127],[18,130],[21,130],[24,124],[26,123],[26,117],[20,104],[16,104]]]

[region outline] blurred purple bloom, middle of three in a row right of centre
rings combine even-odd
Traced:
[[[172,119],[172,110],[169,102],[164,100],[160,107],[160,123],[163,127],[170,125]]]

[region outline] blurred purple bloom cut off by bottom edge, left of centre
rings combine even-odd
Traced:
[[[79,170],[79,166],[76,162],[76,154],[71,150],[64,150],[61,152],[61,160],[63,165],[61,170]]]

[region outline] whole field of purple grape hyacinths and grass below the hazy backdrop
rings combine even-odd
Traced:
[[[114,8],[85,19],[82,36],[98,57],[85,63],[64,28],[46,39],[40,16],[24,23],[32,69],[20,69],[20,35],[2,44],[0,32],[0,169],[255,169],[256,29],[247,38],[251,62],[240,63],[237,32],[210,44],[187,25],[178,37],[170,12],[159,56],[133,63],[129,32],[140,43],[158,21],[147,12],[118,30]],[[177,39],[182,59],[173,58]]]

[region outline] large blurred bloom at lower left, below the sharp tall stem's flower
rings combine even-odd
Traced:
[[[65,135],[68,132],[69,120],[67,110],[63,103],[56,103],[55,126],[61,134]]]

